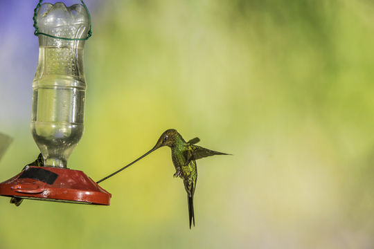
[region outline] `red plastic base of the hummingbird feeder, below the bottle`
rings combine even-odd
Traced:
[[[94,205],[109,205],[112,197],[80,170],[37,166],[0,183],[0,195]]]

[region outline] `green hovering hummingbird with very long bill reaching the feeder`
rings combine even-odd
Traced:
[[[193,223],[195,226],[195,212],[193,209],[193,195],[195,194],[196,189],[196,181],[197,181],[197,167],[196,167],[196,160],[200,158],[204,158],[206,156],[214,156],[214,155],[230,155],[218,151],[213,151],[211,149],[206,149],[204,147],[200,147],[197,144],[199,142],[199,138],[193,138],[186,142],[181,134],[178,133],[175,129],[168,129],[162,133],[159,140],[157,140],[156,145],[150,151],[145,153],[140,158],[134,160],[129,165],[118,169],[118,171],[110,174],[109,176],[101,179],[97,183],[100,183],[107,178],[114,176],[118,172],[121,172],[126,167],[129,167],[136,161],[140,160],[141,158],[147,156],[152,151],[159,149],[163,146],[170,147],[171,154],[172,154],[172,163],[175,167],[175,174],[173,175],[176,178],[181,178],[184,183],[184,188],[187,192],[187,201],[188,201],[188,216],[190,222],[190,228]]]

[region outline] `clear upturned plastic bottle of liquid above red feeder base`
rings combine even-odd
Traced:
[[[81,4],[66,8],[64,3],[43,3],[37,12],[37,26],[40,33],[82,39],[89,31],[89,15]],[[31,133],[45,166],[66,167],[83,133],[85,41],[38,37]]]

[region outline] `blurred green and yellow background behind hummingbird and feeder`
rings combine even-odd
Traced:
[[[64,1],[71,5],[77,1]],[[0,181],[30,134],[37,1],[0,1]],[[374,3],[87,0],[84,136],[98,180],[168,128],[197,162],[196,227],[168,148],[101,185],[109,207],[0,198],[0,248],[374,248]]]

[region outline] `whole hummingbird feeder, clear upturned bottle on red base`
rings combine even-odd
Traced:
[[[109,205],[112,197],[67,161],[83,133],[86,82],[83,48],[91,36],[87,7],[64,3],[37,5],[35,35],[39,62],[33,80],[31,133],[44,167],[26,166],[0,183],[0,195],[22,199]]]

